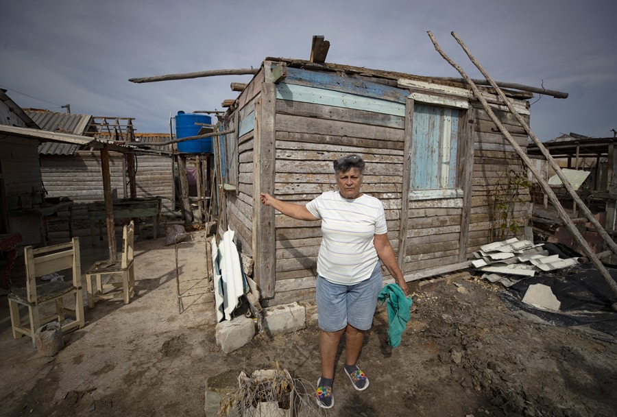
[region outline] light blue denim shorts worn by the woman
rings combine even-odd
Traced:
[[[359,330],[370,329],[382,288],[380,261],[377,261],[370,278],[354,285],[330,283],[317,275],[315,293],[319,329],[335,332],[344,329],[348,323]]]

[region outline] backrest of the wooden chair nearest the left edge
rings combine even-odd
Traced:
[[[80,263],[80,238],[73,237],[68,243],[34,249],[24,248],[26,292],[28,302],[36,302],[36,277],[71,268],[73,285],[82,287],[82,265]]]

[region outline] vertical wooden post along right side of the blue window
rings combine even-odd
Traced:
[[[470,106],[463,117],[461,133],[461,157],[457,169],[461,172],[463,206],[461,207],[461,233],[459,233],[459,262],[467,260],[469,225],[471,217],[472,185],[474,180],[474,133],[476,110]]]

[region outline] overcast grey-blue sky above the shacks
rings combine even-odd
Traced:
[[[617,1],[613,0],[1,0],[0,88],[22,108],[133,117],[137,132],[169,132],[179,110],[224,110],[250,75],[134,84],[130,78],[258,68],[267,57],[482,78],[450,32],[497,81],[562,91],[535,95],[542,141],[617,130]]]

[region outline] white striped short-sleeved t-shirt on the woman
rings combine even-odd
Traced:
[[[388,231],[383,204],[366,194],[348,200],[339,191],[326,191],[306,208],[322,219],[317,273],[342,285],[370,278],[378,260],[374,236]]]

